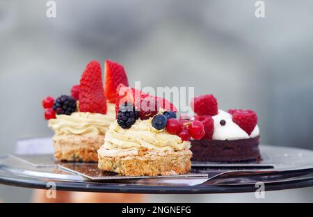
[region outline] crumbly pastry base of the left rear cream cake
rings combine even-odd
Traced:
[[[61,161],[97,162],[104,136],[54,136],[54,156]]]

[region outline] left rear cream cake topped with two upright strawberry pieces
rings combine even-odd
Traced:
[[[86,66],[80,84],[73,86],[71,95],[42,101],[45,119],[54,134],[54,156],[62,161],[97,162],[97,150],[103,144],[106,131],[115,120],[117,83],[128,86],[122,65],[106,61],[105,90],[100,63]]]

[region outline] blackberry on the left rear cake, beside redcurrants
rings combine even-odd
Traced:
[[[54,102],[54,111],[58,115],[71,115],[76,111],[76,99],[70,96],[62,95]]]

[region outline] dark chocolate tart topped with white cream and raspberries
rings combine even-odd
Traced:
[[[262,159],[259,152],[259,127],[254,111],[220,110],[213,95],[195,97],[191,108],[195,116],[189,121],[198,120],[204,126],[204,136],[191,140],[193,161],[234,162]]]

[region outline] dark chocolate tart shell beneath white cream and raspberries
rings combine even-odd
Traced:
[[[238,140],[191,140],[192,161],[261,161],[259,136]]]

